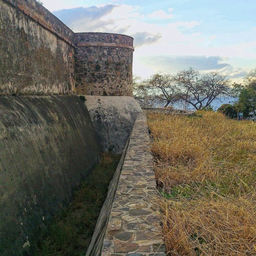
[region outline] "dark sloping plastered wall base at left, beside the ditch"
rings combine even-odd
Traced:
[[[76,95],[1,96],[0,255],[35,255],[44,223],[70,202],[99,157]]]

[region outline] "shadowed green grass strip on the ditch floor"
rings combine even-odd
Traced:
[[[56,214],[42,234],[36,256],[84,256],[120,156],[104,154],[84,179],[71,204]]]

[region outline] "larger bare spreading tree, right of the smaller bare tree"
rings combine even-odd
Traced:
[[[175,78],[180,101],[195,109],[207,108],[214,100],[231,96],[230,80],[218,71],[200,74],[193,68],[180,71]]]

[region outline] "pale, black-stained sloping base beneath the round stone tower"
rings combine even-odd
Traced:
[[[85,96],[85,105],[104,151],[122,153],[129,138],[139,103],[128,96]]]

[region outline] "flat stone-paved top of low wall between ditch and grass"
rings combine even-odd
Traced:
[[[105,235],[102,256],[165,256],[155,212],[156,182],[147,117],[139,113],[132,131]]]

